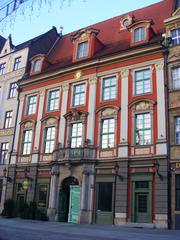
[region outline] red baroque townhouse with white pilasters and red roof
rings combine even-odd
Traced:
[[[168,227],[165,0],[60,36],[19,81],[6,198],[50,220]],[[160,15],[157,12],[161,12]]]

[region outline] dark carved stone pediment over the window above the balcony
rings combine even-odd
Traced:
[[[88,112],[73,109],[72,111],[66,113],[64,117],[68,122],[75,121],[85,121],[87,119]]]

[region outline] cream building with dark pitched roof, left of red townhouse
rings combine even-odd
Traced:
[[[31,59],[37,53],[47,53],[57,37],[56,29],[52,28],[47,33],[18,46],[13,46],[11,36],[5,41],[2,39],[4,44],[0,46],[0,211],[3,209],[7,182],[7,178],[4,178],[3,183],[3,171],[8,170],[15,133],[18,109],[17,82],[28,69],[28,58]]]

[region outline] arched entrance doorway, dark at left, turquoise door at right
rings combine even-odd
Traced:
[[[65,178],[59,191],[59,221],[77,223],[80,212],[80,187],[74,177]]]

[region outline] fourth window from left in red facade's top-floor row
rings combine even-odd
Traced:
[[[102,100],[111,100],[116,98],[116,76],[103,79]]]

